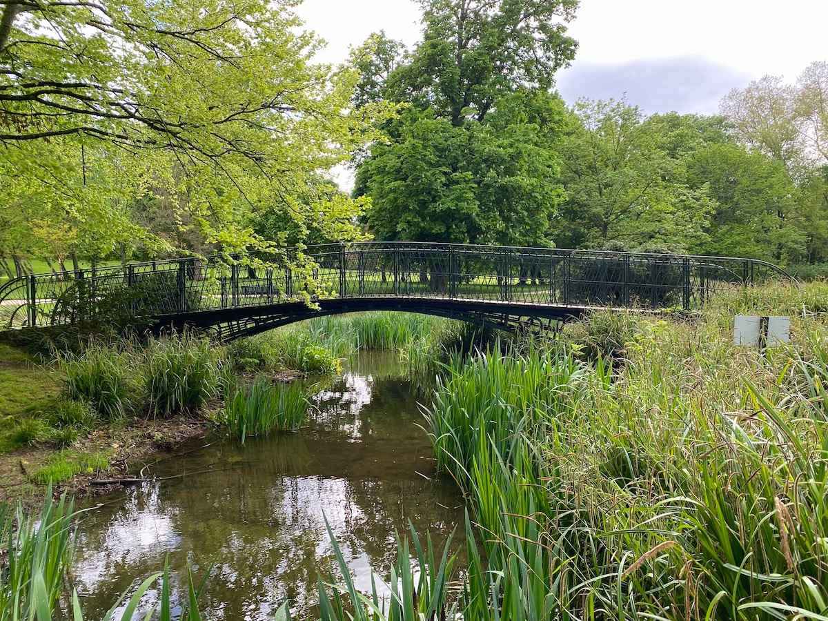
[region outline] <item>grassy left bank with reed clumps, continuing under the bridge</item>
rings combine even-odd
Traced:
[[[285,388],[282,381],[339,373],[344,359],[359,351],[394,352],[402,362],[399,373],[425,390],[440,363],[468,352],[478,332],[426,315],[363,313],[289,325],[229,345],[188,334],[143,342],[99,338],[39,357],[4,345],[9,356],[0,378],[13,390],[2,409],[0,462],[15,479],[6,497],[32,498],[45,484],[91,478],[147,452],[130,455],[130,445],[163,446],[182,432],[224,430],[244,441],[296,431],[309,389]],[[150,432],[147,421],[160,424]],[[84,452],[89,459],[79,459]]]

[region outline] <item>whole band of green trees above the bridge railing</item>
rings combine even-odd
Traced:
[[[296,0],[0,0],[0,261],[372,236],[828,260],[828,62],[718,115],[567,106],[577,0],[420,4],[416,44],[334,67]]]

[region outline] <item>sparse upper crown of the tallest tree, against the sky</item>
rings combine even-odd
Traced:
[[[434,108],[459,126],[504,94],[548,90],[577,44],[577,0],[422,0],[423,36],[388,79],[387,97]]]

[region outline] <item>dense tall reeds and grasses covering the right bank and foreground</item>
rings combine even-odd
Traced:
[[[596,313],[557,339],[452,359],[424,426],[467,498],[465,572],[413,533],[390,599],[359,593],[339,558],[321,609],[343,621],[825,616],[826,299],[818,283],[734,290],[696,318]],[[733,344],[734,313],[771,310],[792,316],[792,344]]]

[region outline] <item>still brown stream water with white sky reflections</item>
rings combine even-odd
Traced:
[[[370,570],[387,579],[395,532],[409,520],[437,546],[455,530],[462,546],[463,504],[435,473],[412,387],[390,354],[360,354],[341,378],[319,387],[298,434],[217,441],[153,465],[156,479],[84,514],[75,585],[90,618],[168,559],[177,585],[189,564],[210,619],[268,619],[285,599],[312,615],[320,572],[335,570],[325,517],[356,583]],[[195,449],[195,450],[193,450]],[[157,593],[147,595],[152,604]]]

